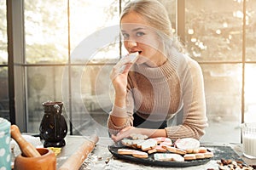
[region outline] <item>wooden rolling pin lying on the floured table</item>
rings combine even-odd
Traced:
[[[95,144],[98,142],[99,138],[96,135],[90,136],[90,139],[86,140],[77,150],[70,156],[67,161],[59,168],[59,170],[79,170],[84,160],[94,149]]]

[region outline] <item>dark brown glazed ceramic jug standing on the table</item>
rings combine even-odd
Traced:
[[[67,122],[62,115],[63,102],[47,101],[43,103],[44,116],[39,130],[44,139],[44,147],[62,147],[66,145]]]

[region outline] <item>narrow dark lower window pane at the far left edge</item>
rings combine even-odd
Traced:
[[[0,117],[9,120],[8,68],[0,67]]]

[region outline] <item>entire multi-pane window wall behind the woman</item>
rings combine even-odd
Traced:
[[[119,8],[128,1],[20,2],[24,2],[25,26],[21,28],[26,43],[24,59],[15,55],[19,77],[23,77],[18,81],[22,86],[16,88],[22,92],[19,97],[26,96],[26,106],[16,111],[26,117],[26,130],[38,133],[44,101],[61,100],[67,122],[71,122],[70,133],[108,135],[106,122],[113,101],[108,73],[124,53],[119,43]],[[241,122],[256,118],[256,2],[160,2],[170,14],[173,31],[203,71],[209,119],[203,140],[240,142]],[[0,2],[0,8],[5,14],[5,3]],[[1,15],[3,20],[5,16]],[[0,81],[3,75],[7,83],[6,26],[0,28]],[[1,105],[4,95],[8,101],[8,94],[0,94]],[[225,138],[216,138],[216,133]]]

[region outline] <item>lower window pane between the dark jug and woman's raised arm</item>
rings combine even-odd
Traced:
[[[71,87],[74,133],[108,136],[108,112],[113,104],[113,90],[109,79],[112,67],[113,65],[73,67]]]

